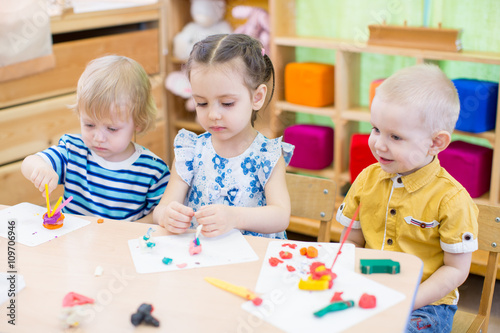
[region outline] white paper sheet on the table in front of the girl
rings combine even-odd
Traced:
[[[139,237],[142,236],[139,235],[136,239],[128,241],[130,254],[137,273],[156,273],[229,265],[255,261],[259,258],[238,230],[232,230],[213,238],[200,236],[202,251],[196,255],[189,254],[189,243],[194,239],[193,233],[155,237],[153,232],[151,236],[156,245],[151,252],[141,249]],[[172,263],[169,265],[164,264],[162,259],[165,257],[172,259]],[[186,266],[178,267],[179,264],[186,264]]]

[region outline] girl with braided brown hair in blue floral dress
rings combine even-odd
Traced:
[[[294,147],[253,127],[271,78],[269,100],[274,92],[271,60],[250,36],[213,35],[195,44],[186,71],[206,132],[177,134],[170,181],[154,221],[176,234],[202,224],[207,237],[239,229],[286,238],[285,171]]]

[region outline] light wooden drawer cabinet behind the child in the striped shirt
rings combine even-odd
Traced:
[[[139,7],[51,18],[56,66],[48,71],[0,83],[0,202],[45,205],[21,174],[27,155],[57,144],[64,133],[79,133],[80,122],[68,105],[87,63],[107,54],[128,56],[150,75],[158,107],[156,129],[138,143],[166,160],[166,101],[163,0]],[[62,194],[62,186],[53,198]]]

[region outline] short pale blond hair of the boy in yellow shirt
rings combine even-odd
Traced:
[[[403,68],[384,80],[375,95],[401,107],[420,112],[422,125],[432,134],[453,133],[460,113],[460,100],[453,82],[432,64]]]

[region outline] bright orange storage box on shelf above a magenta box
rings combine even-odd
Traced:
[[[334,66],[291,62],[285,66],[285,99],[289,103],[321,107],[334,102]]]

